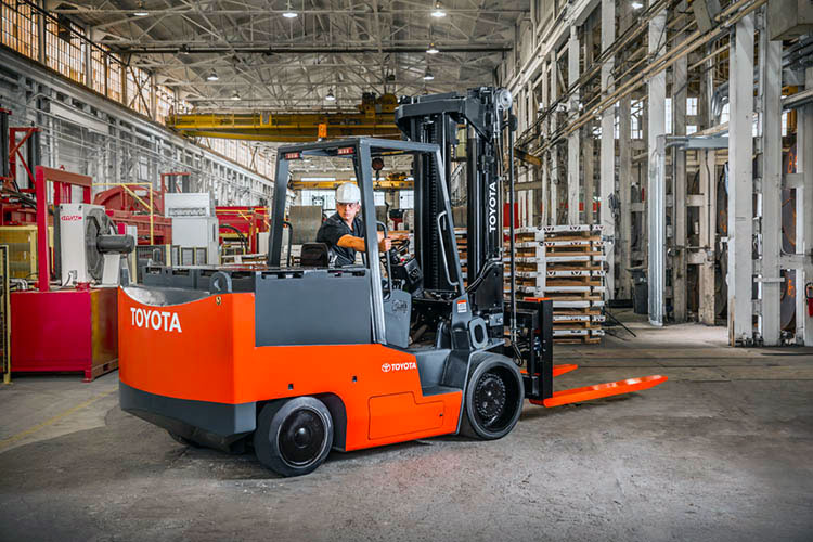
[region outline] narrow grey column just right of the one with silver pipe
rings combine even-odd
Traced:
[[[685,2],[680,11],[686,10]],[[684,39],[680,33],[672,41],[675,47]],[[679,59],[672,66],[672,133],[686,134],[686,86],[688,77],[688,56]],[[674,257],[672,258],[672,307],[674,321],[686,321],[686,259],[687,259],[687,227],[686,227],[686,152],[672,150],[672,241]]]

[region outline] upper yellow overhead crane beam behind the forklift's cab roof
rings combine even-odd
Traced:
[[[358,113],[210,113],[170,115],[166,125],[182,136],[250,141],[308,142],[354,136],[400,139],[393,94],[362,96]]]

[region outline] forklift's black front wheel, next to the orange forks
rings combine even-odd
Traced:
[[[469,370],[461,435],[481,440],[503,438],[519,421],[524,395],[522,375],[511,359],[482,354]]]

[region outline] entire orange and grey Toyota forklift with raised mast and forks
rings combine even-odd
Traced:
[[[122,410],[184,444],[253,448],[264,466],[299,476],[331,450],[455,434],[502,438],[525,399],[554,406],[667,379],[553,391],[553,378],[576,366],[553,364],[552,302],[517,301],[512,288],[504,307],[500,157],[502,133],[513,128],[506,91],[404,100],[396,118],[403,141],[279,149],[266,264],[150,267],[143,285],[122,283]],[[470,164],[468,280],[449,193],[459,130],[468,132]],[[388,232],[375,220],[373,170],[380,158],[403,155],[415,180],[414,250],[396,243],[380,254],[378,230]],[[289,258],[281,264],[291,165],[318,157],[344,158],[356,171],[366,241],[361,263],[331,266],[330,248],[309,243],[299,266]]]

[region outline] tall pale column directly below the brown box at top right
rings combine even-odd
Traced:
[[[763,14],[766,12],[763,9]],[[764,17],[764,15],[763,15]],[[779,247],[782,246],[782,41],[760,29],[760,108],[762,109],[762,269],[759,331],[766,346],[779,345]]]

